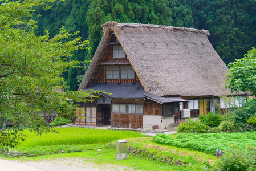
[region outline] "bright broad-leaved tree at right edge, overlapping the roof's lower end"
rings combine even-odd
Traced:
[[[229,63],[226,74],[226,88],[231,92],[249,92],[256,95],[256,49],[253,48],[242,59]]]

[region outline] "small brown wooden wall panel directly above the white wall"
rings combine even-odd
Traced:
[[[144,101],[144,115],[161,115],[162,106],[152,100]]]

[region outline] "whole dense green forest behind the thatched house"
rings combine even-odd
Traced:
[[[255,0],[65,0],[51,9],[38,6],[32,17],[38,21],[36,35],[80,31],[90,41],[90,50],[77,50],[71,60],[91,60],[108,21],[144,23],[209,30],[209,41],[226,64],[242,58],[256,44]],[[75,91],[88,68],[69,68],[64,73],[67,89]]]

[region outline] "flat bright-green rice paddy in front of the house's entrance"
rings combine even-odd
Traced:
[[[109,129],[90,128],[54,128],[59,133],[43,133],[36,135],[25,129],[26,140],[19,147],[49,146],[49,145],[72,145],[72,144],[95,144],[108,143],[110,141],[147,137],[140,132],[119,131]]]

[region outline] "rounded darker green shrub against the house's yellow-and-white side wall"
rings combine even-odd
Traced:
[[[224,120],[224,117],[220,114],[214,112],[208,112],[206,116],[199,116],[199,120],[202,121],[205,125],[209,127],[218,127],[221,121]]]

